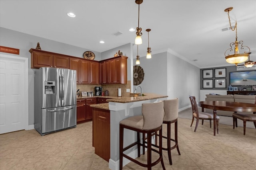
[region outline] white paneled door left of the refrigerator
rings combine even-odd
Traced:
[[[0,134],[23,130],[26,125],[28,125],[28,59],[1,54]]]

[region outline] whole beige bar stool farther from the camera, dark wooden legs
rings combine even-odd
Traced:
[[[177,149],[178,154],[180,155],[180,150],[178,146],[178,108],[179,108],[179,100],[178,98],[172,99],[172,100],[164,100],[164,120],[163,124],[167,124],[167,137],[162,136],[164,139],[167,139],[167,148],[162,147],[163,150],[167,150],[168,152],[168,158],[169,158],[169,163],[172,165],[172,156],[171,156],[171,150],[172,149]],[[174,139],[171,139],[171,124],[174,124]],[[154,135],[154,134],[153,134]],[[158,147],[157,145],[157,136],[159,136],[156,133],[156,145],[153,145],[154,147]],[[143,138],[145,136],[143,135]],[[144,143],[145,140],[143,140]],[[160,139],[159,139],[160,141]],[[171,147],[171,141],[175,142],[175,145]],[[144,146],[143,143],[143,146]],[[159,143],[160,145],[160,143]],[[144,148],[143,148],[143,154],[144,154]]]

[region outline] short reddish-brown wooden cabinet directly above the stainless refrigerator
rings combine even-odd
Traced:
[[[54,68],[69,68],[69,57],[30,49],[31,53],[31,68],[54,67]]]

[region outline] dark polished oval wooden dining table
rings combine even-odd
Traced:
[[[198,105],[202,107],[202,112],[204,108],[213,110],[213,133],[216,135],[216,126],[217,126],[217,110],[225,110],[225,111],[251,111],[256,112],[256,104],[250,103],[242,103],[242,102],[225,102],[225,101],[202,101],[199,102]]]

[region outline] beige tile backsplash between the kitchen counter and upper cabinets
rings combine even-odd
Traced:
[[[93,92],[95,93],[95,87],[102,86],[102,92],[105,90],[108,90],[109,96],[117,96],[117,89],[121,88],[121,94],[122,97],[130,97],[130,92],[126,92],[126,89],[131,89],[131,81],[128,80],[127,84],[84,84],[76,85],[76,89],[80,89],[80,92],[86,91],[86,92]],[[94,94],[95,95],[95,94]]]

